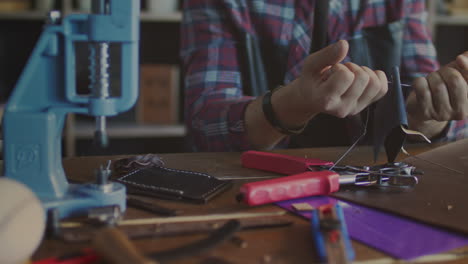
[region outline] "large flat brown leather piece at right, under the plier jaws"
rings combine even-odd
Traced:
[[[468,235],[468,139],[408,157],[419,170],[411,189],[342,188],[333,196]]]

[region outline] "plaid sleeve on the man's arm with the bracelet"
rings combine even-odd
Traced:
[[[237,32],[248,28],[248,23],[246,9],[229,1],[184,1],[181,58],[185,122],[194,151],[251,148],[244,112],[253,98],[242,94],[237,50]]]

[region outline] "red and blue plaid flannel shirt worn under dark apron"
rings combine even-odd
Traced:
[[[328,39],[349,39],[363,28],[403,20],[402,79],[437,70],[425,26],[425,0],[330,0]],[[184,0],[181,58],[185,76],[185,120],[194,151],[252,148],[244,111],[253,97],[242,93],[238,32],[262,36],[288,50],[284,84],[297,78],[309,55],[314,0]],[[346,60],[346,59],[345,59]],[[347,59],[349,60],[349,59]],[[442,140],[468,136],[466,120],[451,122]]]

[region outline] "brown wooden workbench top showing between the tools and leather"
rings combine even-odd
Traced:
[[[424,152],[434,145],[411,146],[407,149],[413,155]],[[320,158],[323,160],[336,160],[345,148],[317,148],[317,149],[289,149],[282,150],[281,153],[296,156],[306,156]],[[214,176],[262,176],[271,173],[255,171],[241,167],[240,153],[179,153],[161,154],[166,167],[186,169],[192,171],[206,172]],[[67,177],[74,180],[91,180],[93,170],[100,164],[104,164],[108,159],[119,157],[80,157],[71,158],[64,161]],[[380,163],[384,160],[384,155],[380,155]],[[399,157],[400,159],[403,156]],[[350,153],[342,164],[370,165],[373,154],[369,147],[357,147]],[[249,208],[235,200],[239,186],[245,181],[236,181],[234,186],[228,191],[207,204],[187,204],[175,201],[149,200],[155,201],[159,205],[183,210],[184,215],[199,215],[208,213],[243,211],[277,211],[278,207],[273,205],[258,206]],[[154,217],[150,213],[129,208],[125,214],[126,219],[140,217]],[[184,258],[171,263],[201,263],[208,257],[219,257],[228,263],[314,263],[316,256],[310,232],[309,222],[298,216],[289,214],[286,216],[293,222],[287,227],[240,231],[238,236],[248,243],[246,248],[241,248],[234,243],[225,242],[214,250],[200,256]],[[174,248],[202,238],[203,235],[159,237],[134,240],[135,245],[143,253],[161,251]],[[62,241],[45,240],[36,251],[33,259],[42,259],[51,256],[63,255],[86,247],[86,244],[66,244]],[[378,252],[366,245],[353,241],[356,259],[358,261],[387,259],[388,256]],[[465,248],[467,249],[467,248]],[[444,263],[467,263],[468,259],[458,259]],[[372,263],[372,262],[365,262]],[[385,262],[388,263],[388,262]]]

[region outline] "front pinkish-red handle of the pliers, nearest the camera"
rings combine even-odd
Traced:
[[[314,195],[327,195],[340,187],[340,176],[333,171],[308,171],[241,186],[242,199],[260,205]]]

